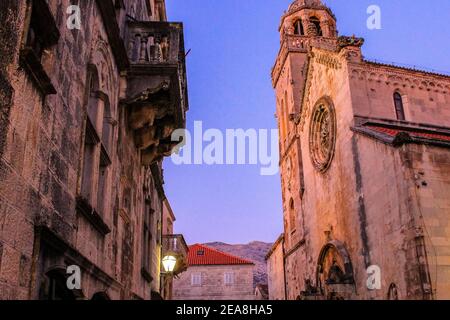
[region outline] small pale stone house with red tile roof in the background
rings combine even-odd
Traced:
[[[174,300],[254,300],[255,265],[196,244],[189,247],[188,269],[174,280]]]

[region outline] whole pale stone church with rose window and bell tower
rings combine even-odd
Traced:
[[[450,77],[367,61],[336,30],[319,0],[281,19],[287,299],[449,299]]]

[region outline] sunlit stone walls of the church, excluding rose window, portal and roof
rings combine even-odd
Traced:
[[[289,70],[293,63],[304,63],[302,59],[295,58],[296,55],[298,54],[288,57],[276,85],[277,114],[281,131],[282,117],[285,117],[286,113],[283,108],[288,108],[288,113],[295,112],[296,109],[296,101],[289,87],[297,84],[294,78],[299,75],[290,75]],[[325,55],[327,63],[321,60]],[[390,83],[363,78],[361,73],[355,74],[354,70],[361,68],[361,65],[354,61],[348,63],[345,51],[343,54],[334,54],[313,49],[311,57],[308,82],[305,86],[306,96],[297,131],[293,132],[292,124],[289,124],[288,131],[285,135],[282,134],[280,139],[288,299],[296,299],[301,291],[308,290],[305,281],[316,283],[319,253],[326,243],[334,240],[343,243],[351,259],[356,290],[348,297],[386,299],[389,288],[395,285],[402,299],[427,298],[426,292],[431,283],[426,279],[442,279],[448,272],[447,246],[444,240],[449,236],[448,221],[444,218],[448,211],[448,197],[445,198],[442,193],[448,193],[449,188],[445,185],[447,182],[442,182],[446,179],[441,177],[442,170],[446,172],[446,150],[431,148],[430,151],[429,147],[423,147],[425,149],[421,151],[420,159],[418,152],[413,153],[413,159],[416,160],[414,162],[410,160],[410,150],[422,148],[420,146],[395,149],[353,133],[350,128],[355,115],[395,119],[395,88],[391,88]],[[330,64],[330,61],[333,63]],[[350,66],[350,71],[347,66]],[[386,67],[379,66],[377,72],[382,74],[384,68]],[[297,66],[297,70],[300,69],[302,68]],[[372,72],[376,71],[372,69]],[[392,70],[391,72],[394,73]],[[396,72],[403,72],[404,78],[409,76],[411,81],[420,78],[414,72]],[[305,75],[304,71],[302,75]],[[440,82],[436,81],[440,83],[439,90],[436,85],[435,90],[430,91],[428,89],[432,81],[431,76],[423,77],[428,77],[424,87],[416,90],[409,88],[408,94],[406,91],[402,92],[406,109],[410,108],[406,111],[407,120],[443,125],[448,112],[448,108],[444,107],[448,106],[448,94],[445,93],[445,85],[440,82],[445,81],[438,77]],[[395,83],[392,84],[395,86]],[[309,126],[312,108],[324,96],[329,97],[335,108],[337,131],[331,166],[325,173],[320,173],[311,161]],[[284,105],[280,99],[290,101],[291,105]],[[424,99],[430,101],[429,106],[424,106]],[[427,108],[431,110],[429,113]],[[295,132],[300,141],[299,145],[295,142]],[[438,159],[439,164],[429,165],[427,162],[433,160],[426,161],[422,158],[434,161]],[[414,165],[411,162],[414,162]],[[440,205],[430,204],[433,191],[431,195],[430,191],[425,195],[416,194],[414,177],[420,176],[419,172],[423,169],[419,168],[423,167],[439,168],[439,175],[434,179],[439,181],[440,187],[436,188],[435,192],[440,197]],[[435,170],[432,172],[435,174]],[[430,189],[431,186],[426,188]],[[422,197],[425,197],[425,200],[421,200]],[[296,214],[294,227],[291,226],[290,217],[291,199]],[[421,209],[422,201],[427,203],[427,209]],[[423,213],[426,210],[436,216],[430,214],[422,226],[421,216],[426,216]],[[429,224],[434,225],[435,229],[426,225],[427,220],[430,220]],[[420,251],[422,241],[426,243],[427,250],[423,257],[418,258],[417,252]],[[439,249],[436,250],[436,247]],[[438,253],[433,253],[434,256],[430,257],[435,251]],[[429,265],[424,264],[422,258],[428,261]],[[437,261],[434,264],[431,262],[433,259]],[[371,265],[381,268],[381,290],[369,290],[366,286],[366,269]],[[282,268],[273,269],[271,273],[275,275],[272,276],[279,277]],[[421,277],[425,280],[421,281]],[[435,283],[434,290],[435,287],[436,297],[446,296],[448,284],[445,280]]]

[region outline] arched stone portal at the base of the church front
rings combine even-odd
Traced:
[[[353,265],[341,241],[329,241],[320,250],[316,284],[319,292],[329,299],[348,298],[354,294]]]

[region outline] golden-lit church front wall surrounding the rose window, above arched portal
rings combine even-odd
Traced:
[[[314,49],[315,57],[324,53]],[[301,263],[303,275],[300,278],[315,283],[317,260],[323,246],[332,239],[343,241],[350,251],[356,281],[364,283],[364,230],[361,230],[361,216],[358,208],[359,191],[356,190],[353,134],[349,130],[353,120],[351,94],[347,79],[346,63],[336,54],[330,54],[340,62],[338,67],[329,68],[313,59],[310,63],[307,84],[307,98],[304,104],[305,119],[300,123],[299,135],[302,148],[305,192],[302,214],[305,234],[305,257]],[[320,173],[313,166],[309,148],[309,126],[311,112],[317,101],[329,97],[336,113],[336,147],[329,169]],[[303,127],[302,127],[303,125]],[[304,282],[304,281],[302,281]],[[301,283],[304,287],[304,283]],[[360,285],[361,286],[361,285]],[[302,290],[304,290],[303,288]]]

